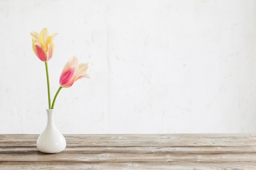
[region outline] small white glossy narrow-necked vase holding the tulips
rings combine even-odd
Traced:
[[[66,140],[54,124],[54,109],[46,109],[47,125],[36,141],[36,147],[43,153],[58,153],[66,148]]]

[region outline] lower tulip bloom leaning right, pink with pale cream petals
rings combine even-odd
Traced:
[[[81,63],[78,65],[78,60],[76,56],[72,57],[67,64],[65,64],[61,76],[60,76],[60,86],[68,88],[72,86],[72,84],[83,77],[89,78],[85,72],[88,69],[88,62]]]

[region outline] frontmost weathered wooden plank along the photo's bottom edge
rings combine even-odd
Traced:
[[[172,163],[172,162],[125,162],[125,163],[0,163],[3,170],[255,170],[256,163]]]

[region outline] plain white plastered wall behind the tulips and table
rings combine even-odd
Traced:
[[[57,32],[52,98],[67,133],[256,132],[255,0],[0,0],[0,133],[46,125],[45,65],[30,31]]]

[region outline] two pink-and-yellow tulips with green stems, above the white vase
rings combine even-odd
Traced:
[[[49,35],[48,29],[44,28],[37,33],[35,31],[30,32],[32,38],[32,48],[36,56],[42,61],[45,62],[45,70],[47,77],[47,90],[48,90],[48,104],[49,109],[54,109],[54,103],[56,101],[56,97],[61,89],[71,87],[76,80],[81,79],[83,77],[89,78],[89,75],[86,74],[88,69],[88,62],[78,64],[78,59],[76,56],[73,56],[64,66],[58,88],[54,99],[51,104],[51,95],[50,95],[50,85],[49,85],[49,73],[48,73],[48,64],[47,62],[51,60],[53,51],[54,51],[54,42],[53,39],[58,33],[53,33]]]

